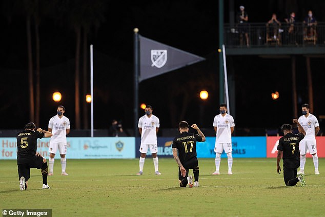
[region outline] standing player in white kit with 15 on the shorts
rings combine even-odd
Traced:
[[[234,131],[235,122],[233,116],[227,114],[227,105],[220,105],[220,114],[216,115],[213,120],[213,127],[216,131],[216,140],[214,146],[215,155],[215,172],[213,175],[219,175],[221,153],[225,150],[228,157],[228,174],[232,174],[232,145],[231,134]]]

